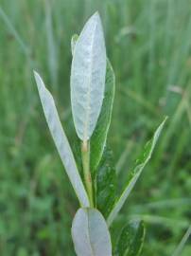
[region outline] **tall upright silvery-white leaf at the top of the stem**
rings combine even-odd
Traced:
[[[98,12],[78,37],[71,69],[72,113],[78,137],[92,136],[104,96],[106,49]]]

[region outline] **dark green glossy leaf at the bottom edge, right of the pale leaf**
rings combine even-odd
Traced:
[[[140,220],[130,221],[122,229],[117,246],[117,256],[139,256],[145,239],[144,222]]]

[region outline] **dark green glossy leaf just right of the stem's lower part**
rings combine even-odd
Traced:
[[[96,207],[105,218],[113,208],[116,198],[116,173],[112,152],[106,149],[97,170]]]

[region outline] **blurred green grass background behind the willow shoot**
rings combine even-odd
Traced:
[[[165,115],[164,135],[114,225],[142,216],[142,255],[172,255],[191,219],[191,1],[0,0],[0,255],[75,255],[77,200],[49,135],[32,69],[74,143],[70,39],[100,11],[116,74],[109,144],[123,184]],[[190,239],[182,256],[191,255]]]

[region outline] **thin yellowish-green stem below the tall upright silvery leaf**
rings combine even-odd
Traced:
[[[89,141],[83,141],[81,144],[81,158],[82,158],[85,186],[86,186],[88,196],[90,199],[90,207],[94,208],[93,184],[92,184],[92,176],[91,176],[91,172],[90,172],[90,143],[89,143]]]

